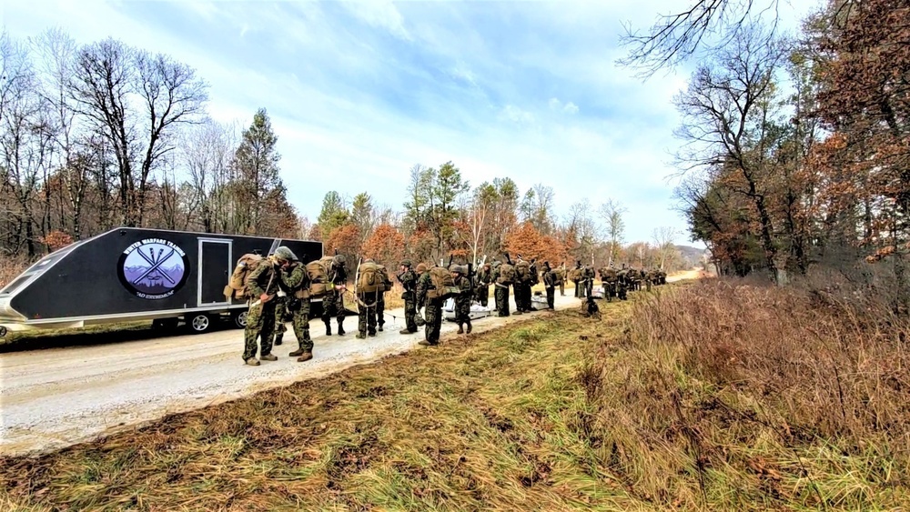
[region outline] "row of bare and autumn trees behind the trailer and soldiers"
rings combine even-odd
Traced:
[[[303,237],[353,258],[688,266],[670,228],[626,245],[625,209],[509,177],[471,186],[452,162],[410,169],[400,209],[329,191],[310,222],[288,202],[268,112],[220,123],[195,69],[112,38],[0,35],[0,251],[27,261],[115,226]]]

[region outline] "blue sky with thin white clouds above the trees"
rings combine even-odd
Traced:
[[[614,65],[622,23],[646,28],[681,0],[579,2],[5,1],[16,38],[59,26],[173,55],[210,85],[209,114],[248,125],[265,107],[288,196],[315,220],[328,190],[368,180],[404,201],[414,164],[451,160],[471,185],[552,186],[557,214],[622,202],[626,240],[672,211],[671,100],[687,72],[647,82]],[[782,5],[787,18],[811,0]],[[596,216],[596,211],[592,212]],[[685,243],[688,234],[677,238]]]

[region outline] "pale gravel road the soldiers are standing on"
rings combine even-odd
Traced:
[[[685,274],[668,278],[694,278]],[[510,296],[511,311],[515,311]],[[578,306],[567,294],[557,309]],[[349,366],[418,348],[423,330],[399,335],[403,310],[387,311],[386,330],[376,337],[313,336],[313,359],[288,357],[293,334],[272,353],[278,361],[244,366],[243,332],[170,336],[101,346],[76,346],[0,355],[0,454],[25,455],[67,447],[98,435],[174,414],[244,397],[271,387],[326,376]],[[392,321],[390,315],[396,316]],[[546,312],[477,320],[474,332]],[[319,333],[321,322],[313,320]],[[442,323],[442,343],[458,326]],[[428,348],[432,350],[432,348]]]

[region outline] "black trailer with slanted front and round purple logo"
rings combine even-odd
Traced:
[[[118,227],[39,260],[0,290],[0,324],[10,330],[69,328],[134,320],[206,332],[229,315],[246,325],[247,302],[226,298],[238,258],[288,246],[301,261],[322,256],[322,243],[261,236],[214,235]],[[314,299],[311,315],[322,303]],[[5,328],[0,328],[0,336]]]

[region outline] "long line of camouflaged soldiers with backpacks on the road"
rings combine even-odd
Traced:
[[[313,357],[313,340],[309,334],[309,320],[311,300],[308,293],[310,289],[310,276],[307,266],[298,260],[298,257],[286,246],[278,247],[275,252],[265,258],[265,264],[258,265],[246,279],[247,295],[250,306],[247,314],[247,323],[244,333],[243,359],[246,364],[258,366],[259,360],[275,361],[278,359],[271,351],[273,346],[283,343],[287,332],[285,323],[289,320],[298,339],[298,349],[288,356],[298,357],[298,362],[304,362]],[[374,264],[372,259],[365,259],[363,264]],[[384,274],[381,286],[376,286],[371,291],[359,290],[357,286],[353,291],[348,289],[348,268],[343,256],[331,258],[331,268],[328,272],[326,293],[322,296],[321,319],[326,326],[326,336],[332,335],[331,320],[334,316],[337,321],[337,334],[344,336],[344,306],[345,294],[351,294],[358,305],[358,334],[357,338],[377,336],[382,332],[385,324],[385,293],[391,290],[392,283]],[[515,295],[515,315],[531,313],[534,311],[531,299],[531,286],[543,282],[546,292],[546,309],[554,308],[555,290],[560,288],[565,296],[565,282],[568,276],[575,283],[575,296],[584,298],[592,296],[594,273],[590,266],[582,267],[578,262],[575,269],[567,273],[564,264],[551,267],[549,262],[544,262],[541,269],[537,261],[525,261],[518,255],[517,261],[512,262],[508,255],[505,261],[494,259],[492,262],[484,260],[476,272],[471,266],[450,265],[445,268],[450,274],[451,286],[445,292],[434,285],[434,278],[440,278],[440,267],[431,267],[419,263],[412,268],[410,260],[403,260],[399,264],[399,272],[395,274],[403,291],[401,298],[404,300],[405,327],[400,334],[414,334],[420,326],[424,326],[424,339],[422,346],[437,346],[440,343],[440,328],[442,325],[442,307],[445,301],[454,299],[455,322],[458,324],[458,334],[470,333],[470,306],[473,302],[487,307],[489,304],[489,289],[494,286],[494,300],[498,316],[510,316],[509,291],[510,287]],[[431,273],[435,273],[431,276]],[[612,266],[604,267],[600,271],[604,285],[605,296],[612,299],[619,296],[625,299],[627,289],[640,289],[645,283],[648,289],[652,284],[665,283],[666,274],[661,271],[643,272],[632,268],[615,270]],[[448,281],[447,281],[448,282]],[[423,309],[423,316],[418,311]],[[259,346],[257,346],[257,342]],[[257,348],[259,359],[256,358]]]

